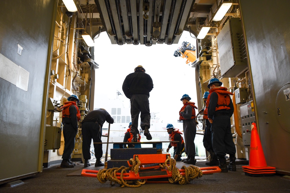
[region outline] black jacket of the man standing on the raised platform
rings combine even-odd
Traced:
[[[126,76],[122,90],[128,99],[131,99],[132,94],[147,94],[153,89],[153,81],[150,75],[144,73],[142,70]]]

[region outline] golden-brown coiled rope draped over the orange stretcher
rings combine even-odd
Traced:
[[[134,172],[135,174],[139,171],[140,166],[140,160],[138,157],[135,157],[135,160],[133,158],[130,159],[130,162],[132,163],[132,168],[121,166],[120,168],[110,168],[110,169],[101,169],[97,173],[97,179],[100,183],[106,183],[107,180],[110,181],[110,185],[120,184],[122,188],[131,187],[131,188],[137,188],[141,185],[145,184],[146,179],[141,180],[124,180],[124,173],[127,173],[127,170],[130,170]],[[167,162],[169,162],[169,166],[167,165]],[[172,173],[172,177],[169,177],[168,180],[170,183],[179,183],[181,185],[190,183],[191,180],[195,178],[202,177],[202,170],[200,170],[197,166],[189,166],[186,168],[186,166],[182,166],[181,169],[185,170],[185,176],[182,176],[179,172],[179,169],[176,168],[176,160],[173,158],[168,157],[164,163],[159,164],[159,166],[162,169],[166,169],[169,172]],[[121,171],[120,180],[117,179],[116,173]]]

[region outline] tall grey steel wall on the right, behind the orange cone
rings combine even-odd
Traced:
[[[240,0],[255,94],[255,110],[267,164],[290,172],[290,133],[277,116],[279,90],[290,82],[289,0]],[[290,101],[280,101],[289,106]],[[288,113],[289,108],[285,113]],[[251,159],[251,158],[250,158]]]

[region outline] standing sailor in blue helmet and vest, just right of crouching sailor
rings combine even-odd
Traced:
[[[179,120],[183,122],[183,133],[185,140],[185,153],[186,159],[183,159],[185,164],[195,164],[195,144],[194,138],[196,135],[196,123],[195,123],[195,106],[194,102],[190,102],[191,98],[188,94],[184,94],[180,101],[182,101],[183,107],[179,111]]]

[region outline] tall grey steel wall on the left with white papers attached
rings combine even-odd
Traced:
[[[29,72],[28,91],[0,78],[0,183],[42,169],[55,0],[1,0],[0,53]],[[17,44],[23,47],[17,53]],[[3,69],[1,69],[3,70]],[[42,163],[41,163],[42,165]]]

